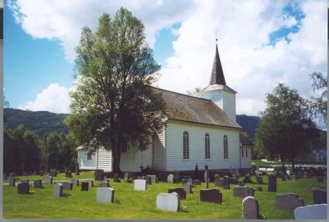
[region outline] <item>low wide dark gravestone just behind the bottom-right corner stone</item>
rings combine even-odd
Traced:
[[[295,210],[300,206],[304,206],[304,201],[298,198],[295,193],[276,195],[276,208],[278,209]]]

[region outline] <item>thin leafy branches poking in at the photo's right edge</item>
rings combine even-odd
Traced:
[[[313,72],[310,75],[314,91],[319,92],[318,97],[310,98],[310,106],[314,116],[326,123],[327,120],[327,100],[328,100],[328,82],[326,77],[319,72]]]

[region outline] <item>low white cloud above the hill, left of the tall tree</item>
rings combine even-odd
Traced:
[[[56,113],[68,113],[70,88],[65,88],[59,84],[50,84],[47,88],[43,89],[41,93],[36,95],[34,101],[28,101],[25,105],[19,106],[21,110],[42,111]]]

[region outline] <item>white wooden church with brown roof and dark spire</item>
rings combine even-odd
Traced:
[[[210,171],[252,167],[252,143],[241,135],[236,123],[236,91],[226,85],[216,45],[210,84],[199,97],[154,88],[166,103],[167,120],[161,132],[150,136],[149,149],[123,150],[123,172],[140,172],[141,166],[159,172],[194,171],[208,165]],[[112,171],[111,151],[98,149],[94,154],[77,148],[82,170]]]

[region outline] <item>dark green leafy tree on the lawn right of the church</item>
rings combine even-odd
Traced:
[[[289,159],[294,169],[297,155],[309,152],[312,142],[320,136],[306,99],[284,84],[267,94],[266,108],[260,116],[256,147],[269,158],[280,156],[283,168],[284,160]]]

